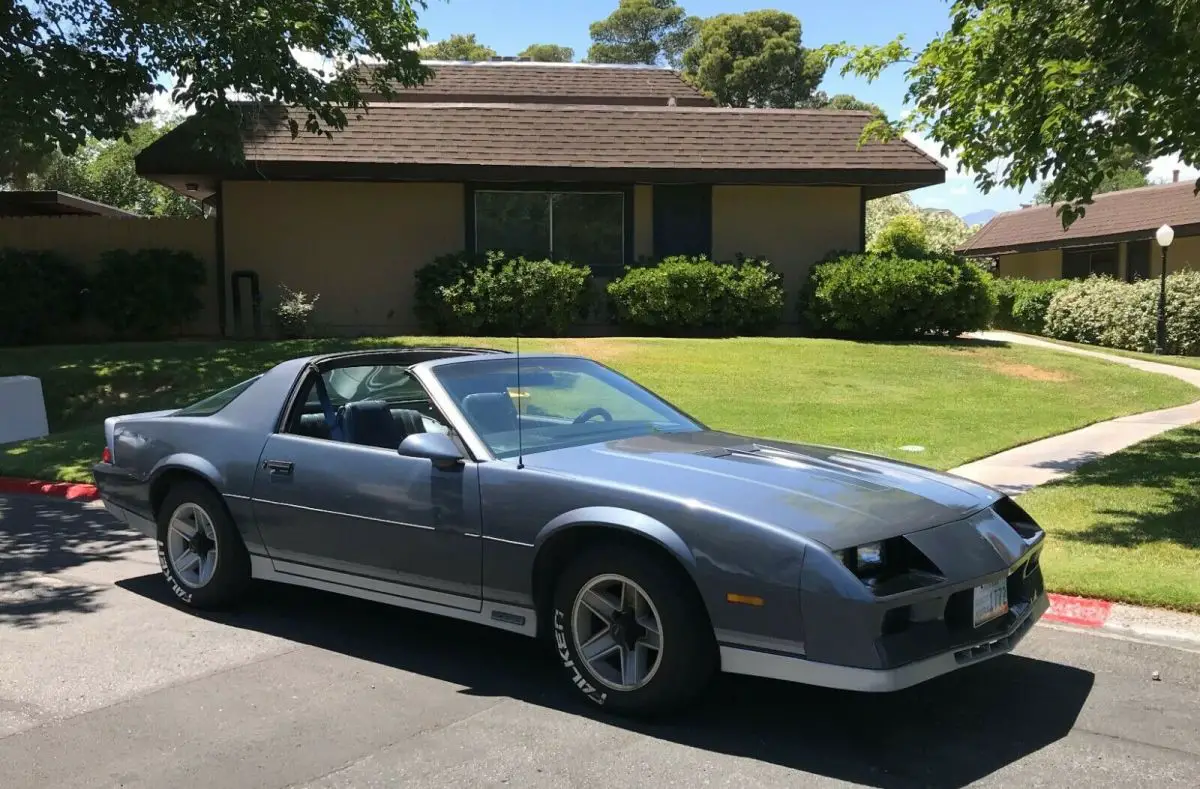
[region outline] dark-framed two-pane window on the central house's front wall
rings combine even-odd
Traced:
[[[623,192],[475,192],[475,251],[570,260],[598,275],[625,265]]]

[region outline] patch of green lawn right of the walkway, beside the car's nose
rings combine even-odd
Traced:
[[[1049,534],[1046,585],[1200,613],[1200,426],[1144,441],[1018,500]]]

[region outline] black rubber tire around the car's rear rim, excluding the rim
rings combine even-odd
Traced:
[[[174,566],[168,540],[172,517],[181,507],[198,507],[211,520],[216,535],[216,561],[203,583]],[[250,585],[250,554],[229,511],[212,488],[200,482],[173,484],[156,513],[158,522],[158,565],[175,596],[192,608],[218,609],[236,602]]]

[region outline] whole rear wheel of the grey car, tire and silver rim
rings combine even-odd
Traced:
[[[172,591],[193,608],[233,603],[250,583],[250,555],[221,498],[182,482],[158,508],[158,565]]]

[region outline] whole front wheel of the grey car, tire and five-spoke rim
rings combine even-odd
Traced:
[[[649,552],[588,552],[559,577],[554,646],[571,683],[626,715],[673,711],[716,670],[716,644],[691,579]]]

